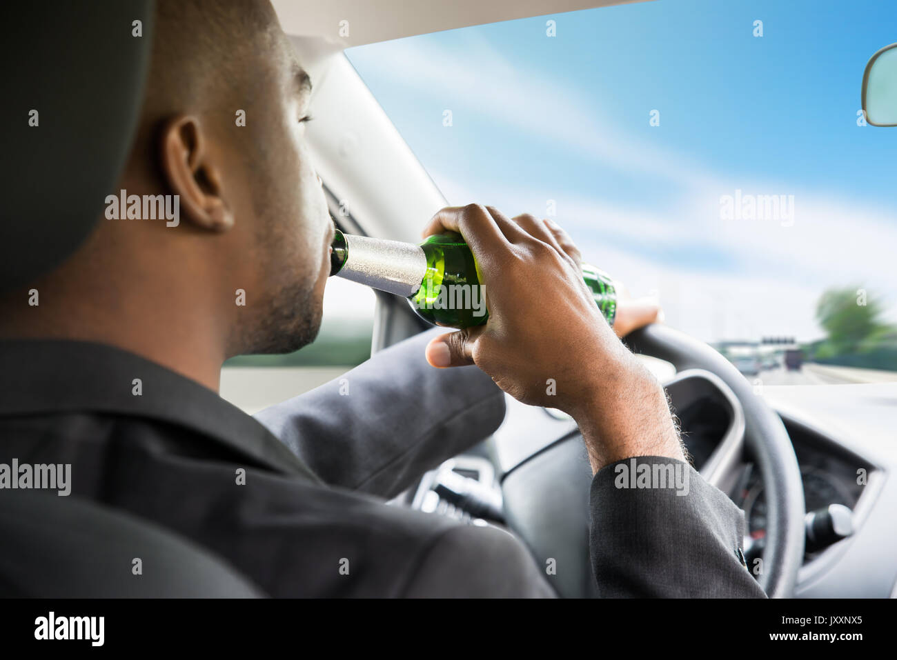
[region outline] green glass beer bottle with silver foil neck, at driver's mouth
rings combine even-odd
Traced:
[[[483,277],[460,234],[447,231],[414,245],[336,230],[332,247],[331,275],[403,296],[425,321],[469,327],[489,317]],[[583,264],[582,274],[598,309],[613,326],[614,282],[595,266]]]

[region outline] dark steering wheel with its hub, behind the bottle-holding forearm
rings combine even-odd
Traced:
[[[624,342],[632,352],[675,366],[676,377],[665,386],[680,409],[690,399],[707,396],[727,408],[728,428],[701,466],[701,476],[720,490],[731,491],[746,450],[760,471],[768,509],[758,581],[770,597],[789,597],[804,556],[804,490],[794,448],[779,416],[706,343],[663,325],[640,328]],[[570,516],[570,511],[580,510],[583,517],[588,512],[592,474],[584,456],[579,433],[569,434],[514,467],[501,484],[508,524],[538,560],[557,560],[555,583],[562,595],[596,595],[588,563],[588,520]]]

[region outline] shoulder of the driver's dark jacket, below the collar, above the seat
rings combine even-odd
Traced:
[[[0,424],[9,440],[0,457],[71,462],[73,494],[199,543],[269,595],[527,595],[502,589],[533,583],[545,590],[507,532],[278,473],[192,430],[81,413],[23,424]]]

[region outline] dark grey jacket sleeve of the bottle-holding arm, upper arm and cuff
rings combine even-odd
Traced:
[[[682,479],[640,488],[639,482],[621,479],[633,465],[636,471],[643,465],[672,468]],[[740,552],[744,512],[691,465],[664,456],[607,465],[593,477],[589,508],[599,595],[764,597]],[[539,598],[555,593],[516,537],[493,527],[453,525],[422,552],[401,595]]]

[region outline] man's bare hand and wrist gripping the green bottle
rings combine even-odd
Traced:
[[[478,204],[442,209],[423,234],[445,230],[459,232],[473,250],[489,320],[434,339],[431,365],[476,364],[518,401],[570,413],[593,472],[629,456],[684,460],[663,389],[607,325],[564,230]],[[655,317],[623,306],[627,332]]]

